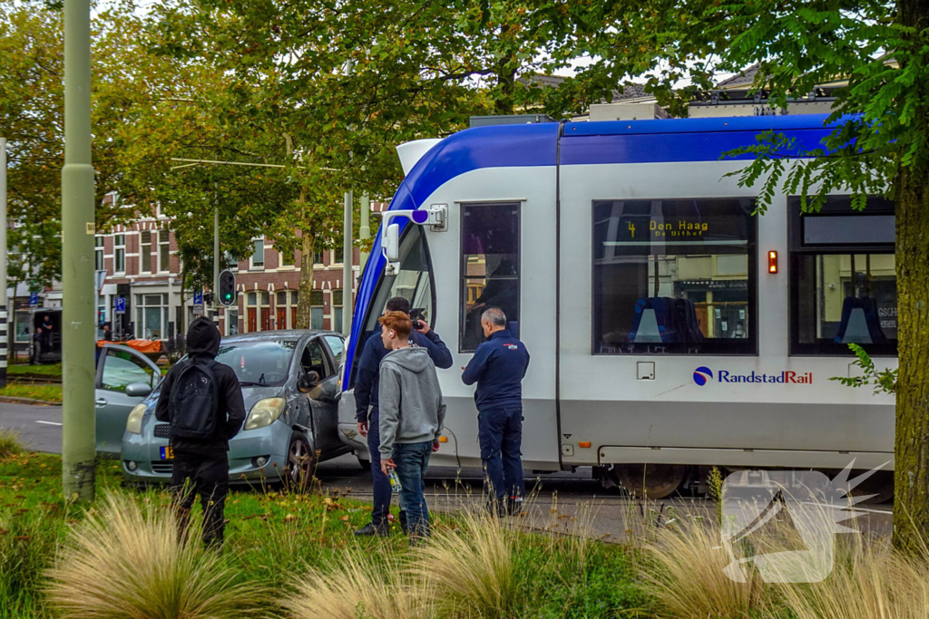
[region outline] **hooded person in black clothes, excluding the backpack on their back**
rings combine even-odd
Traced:
[[[188,358],[168,371],[155,407],[155,419],[167,421],[174,427],[177,419],[197,412],[182,408],[172,416],[171,392],[181,371],[188,364],[200,364],[213,373],[218,417],[213,436],[182,438],[172,432],[171,439],[174,450],[171,490],[179,534],[181,539],[187,538],[190,508],[196,493],[200,495],[203,506],[203,544],[207,547],[219,547],[223,543],[223,509],[229,490],[229,439],[239,433],[245,420],[245,402],[239,379],[232,368],[214,361],[218,351],[219,331],[213,322],[201,316],[190,323],[187,331]]]

